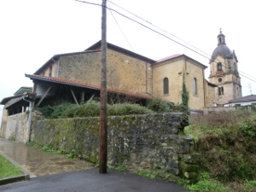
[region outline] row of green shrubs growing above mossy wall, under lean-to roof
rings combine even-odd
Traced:
[[[135,103],[116,103],[107,107],[108,116],[122,116],[129,114],[148,113],[172,113],[174,106],[170,102],[164,102],[160,98],[148,101],[146,107]],[[81,105],[64,103],[58,106],[44,106],[36,108],[46,119],[65,119],[75,117],[99,117],[100,102],[90,101]],[[183,110],[183,108],[182,108]]]

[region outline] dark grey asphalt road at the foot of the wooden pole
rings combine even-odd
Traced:
[[[98,169],[64,172],[0,186],[1,192],[188,192],[176,183],[140,177],[127,172]]]

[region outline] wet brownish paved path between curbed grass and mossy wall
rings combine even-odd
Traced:
[[[65,154],[41,151],[25,143],[12,142],[0,137],[0,151],[31,172],[31,177],[60,172],[91,169],[94,164],[77,158],[67,159]]]

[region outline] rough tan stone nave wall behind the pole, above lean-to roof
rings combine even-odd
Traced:
[[[101,52],[61,56],[58,77],[101,85]],[[108,49],[108,89],[152,94],[152,70],[145,61]]]

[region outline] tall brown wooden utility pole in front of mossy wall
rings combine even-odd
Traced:
[[[100,131],[100,155],[99,172],[107,173],[107,0],[102,0],[102,74],[101,74],[101,131]]]

